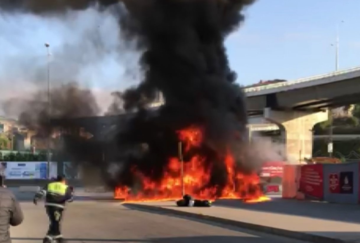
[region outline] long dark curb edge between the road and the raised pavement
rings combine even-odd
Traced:
[[[199,214],[199,213],[179,211],[179,210],[175,210],[175,209],[171,209],[171,208],[164,208],[164,207],[159,207],[159,206],[135,204],[135,203],[125,203],[124,205],[126,205],[128,207],[133,207],[134,209],[138,209],[138,210],[165,212],[165,213],[170,213],[170,214],[177,215],[177,216],[190,217],[193,219],[210,220],[212,222],[216,222],[219,224],[231,225],[231,226],[236,226],[236,227],[243,228],[243,229],[249,229],[249,230],[254,230],[254,231],[258,231],[258,232],[262,232],[262,233],[279,235],[282,237],[303,240],[303,241],[308,241],[308,242],[314,242],[314,243],[324,243],[324,242],[326,242],[326,243],[356,243],[353,241],[345,241],[345,240],[341,240],[341,239],[335,239],[335,238],[330,238],[330,237],[325,237],[325,236],[320,236],[320,235],[314,235],[314,234],[309,234],[309,233],[305,233],[305,232],[279,229],[279,228],[274,228],[274,227],[270,227],[270,226],[251,224],[251,223],[247,223],[247,222],[224,219],[221,217],[203,215],[203,214]]]

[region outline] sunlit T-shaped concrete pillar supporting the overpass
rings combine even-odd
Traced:
[[[285,131],[285,154],[289,161],[312,156],[312,128],[316,123],[328,120],[328,112],[273,111],[264,109],[264,118]]]

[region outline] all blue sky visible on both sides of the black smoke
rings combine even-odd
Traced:
[[[243,26],[226,40],[238,82],[249,85],[274,78],[293,80],[333,71],[335,49],[331,44],[341,21],[339,67],[360,65],[359,10],[359,0],[258,0],[246,10]],[[120,33],[115,19],[106,14],[94,17],[94,12],[69,14],[66,21],[0,13],[3,90],[6,85],[22,87],[29,80],[45,84],[44,42],[50,42],[53,53],[52,82],[67,76],[100,89],[123,89],[134,84],[129,73],[137,72],[138,55],[129,46],[117,43]],[[84,38],[94,31],[107,46],[107,55],[96,53],[94,43]],[[121,57],[113,54],[118,48]]]

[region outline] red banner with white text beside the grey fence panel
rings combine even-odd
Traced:
[[[300,191],[307,196],[322,199],[324,196],[323,165],[301,166]]]

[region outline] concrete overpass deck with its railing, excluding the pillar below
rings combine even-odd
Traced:
[[[360,67],[301,78],[294,81],[247,87],[250,112],[265,107],[277,110],[314,111],[360,101]]]

